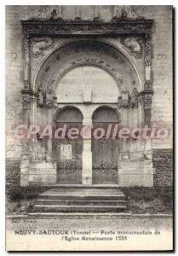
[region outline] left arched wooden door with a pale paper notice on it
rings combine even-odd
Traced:
[[[79,117],[79,118],[78,118]],[[65,122],[64,119],[66,120]],[[74,119],[76,122],[74,122]],[[71,122],[70,122],[71,121]],[[82,117],[76,113],[76,109],[67,110],[62,113],[56,129],[66,125],[66,131],[71,128],[82,126]],[[60,138],[55,139],[55,159],[57,162],[57,183],[60,184],[81,184],[82,183],[82,152],[83,139],[78,138]]]

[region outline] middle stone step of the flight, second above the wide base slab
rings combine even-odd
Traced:
[[[126,201],[85,201],[85,200],[49,200],[38,199],[35,205],[54,205],[54,206],[126,206]]]

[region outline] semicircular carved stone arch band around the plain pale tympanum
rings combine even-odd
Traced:
[[[137,90],[139,88],[139,79],[131,63],[117,49],[93,40],[72,42],[72,44],[67,44],[55,50],[43,63],[37,74],[36,88],[40,88],[43,84],[43,95],[46,94],[48,89],[55,91],[60,78],[65,73],[75,67],[90,65],[100,67],[110,73],[120,90],[129,90],[131,93],[134,87]],[[127,83],[124,81],[124,78],[128,76],[126,70],[129,70],[129,81]]]

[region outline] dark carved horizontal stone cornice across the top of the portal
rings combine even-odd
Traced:
[[[28,35],[58,34],[122,34],[151,33],[153,20],[121,19],[100,20],[21,20],[22,30]]]

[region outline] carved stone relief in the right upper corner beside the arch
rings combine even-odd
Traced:
[[[122,38],[121,43],[129,50],[131,55],[134,55],[136,59],[141,59],[143,55],[143,41],[141,38]]]

